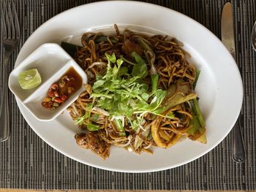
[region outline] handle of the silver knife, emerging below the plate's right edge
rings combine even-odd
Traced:
[[[242,163],[246,159],[246,153],[244,148],[244,139],[241,133],[240,118],[236,121],[233,127],[233,161],[236,163]]]

